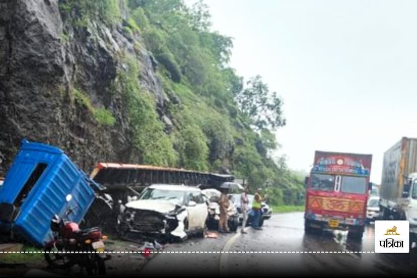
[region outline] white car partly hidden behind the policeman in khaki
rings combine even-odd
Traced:
[[[202,193],[206,197],[208,206],[207,228],[217,230],[219,228],[220,220],[220,205],[219,199],[222,194],[219,190],[214,188],[203,189]],[[239,226],[239,214],[233,201],[230,201],[228,207],[228,222],[227,225],[230,231],[235,232]]]

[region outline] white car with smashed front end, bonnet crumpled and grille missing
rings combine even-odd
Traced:
[[[154,184],[145,188],[137,200],[124,205],[118,230],[122,237],[134,233],[184,240],[191,234],[204,234],[207,214],[207,205],[199,188]]]

